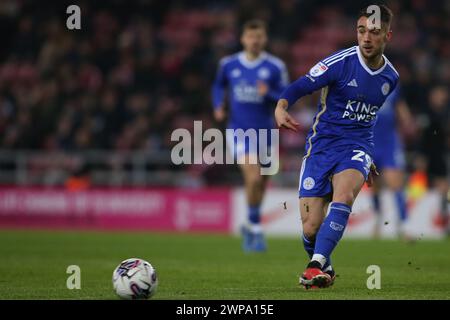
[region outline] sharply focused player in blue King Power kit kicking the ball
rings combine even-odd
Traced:
[[[357,20],[358,45],[321,60],[289,85],[275,109],[278,127],[298,130],[287,108],[322,89],[307,136],[299,198],[303,244],[310,262],[300,276],[305,288],[333,284],[330,256],[342,238],[363,184],[372,183],[373,126],[378,109],[397,86],[398,73],[383,55],[391,40],[392,12],[363,9]],[[378,20],[378,23],[377,23]]]

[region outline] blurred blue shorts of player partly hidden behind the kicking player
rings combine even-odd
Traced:
[[[386,168],[403,169],[405,167],[405,154],[403,146],[397,136],[388,141],[375,140],[373,162],[378,171]]]

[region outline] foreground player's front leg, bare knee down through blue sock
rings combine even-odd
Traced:
[[[328,216],[316,236],[312,261],[323,267],[344,234],[353,202],[364,184],[363,174],[356,169],[347,169],[333,176],[333,201]]]

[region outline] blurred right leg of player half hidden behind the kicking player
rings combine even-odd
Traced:
[[[403,190],[403,171],[396,168],[386,168],[383,170],[382,177],[388,189],[394,193],[395,204],[399,213],[399,235],[404,236],[403,228],[408,214]]]

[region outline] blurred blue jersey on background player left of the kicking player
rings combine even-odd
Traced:
[[[258,94],[258,81],[269,86],[266,96]],[[275,103],[289,83],[285,64],[275,56],[263,52],[253,61],[244,52],[227,56],[220,61],[212,89],[213,106],[224,103],[228,89],[232,129],[271,129],[274,127]]]

